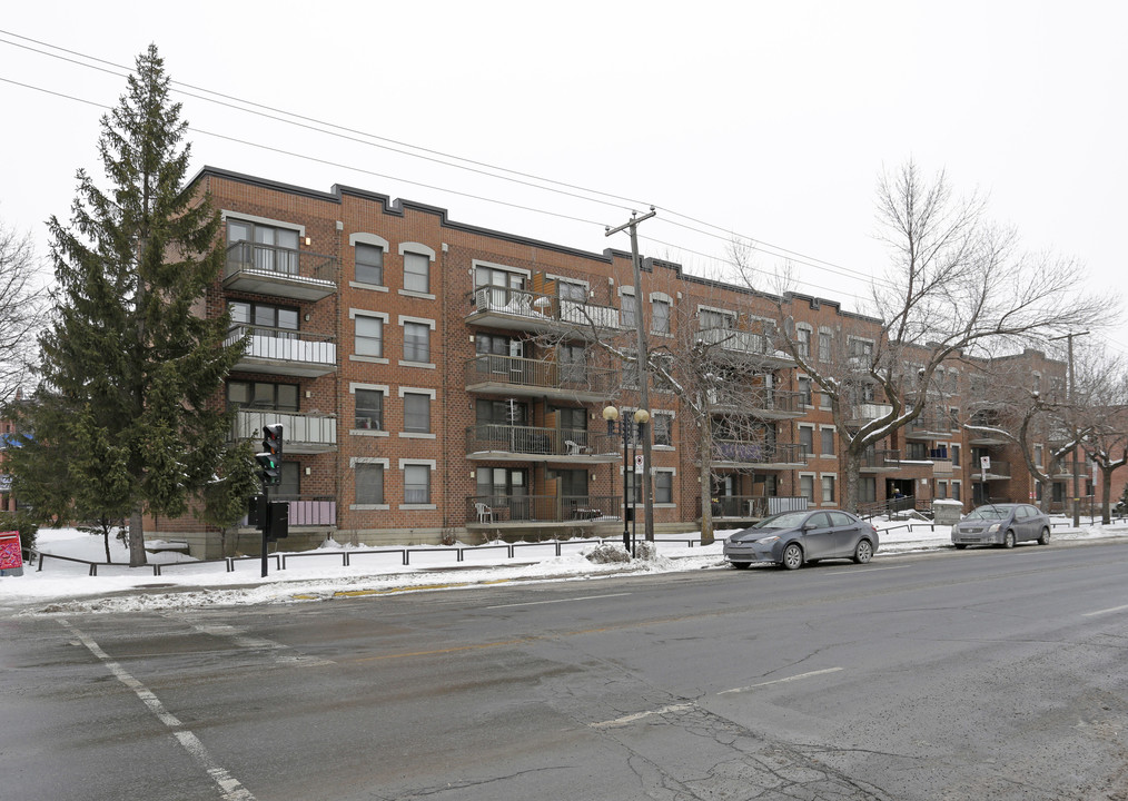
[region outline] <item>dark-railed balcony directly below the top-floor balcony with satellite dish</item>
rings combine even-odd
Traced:
[[[466,391],[600,403],[618,388],[616,370],[482,354],[466,362]]]

